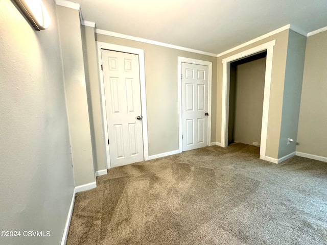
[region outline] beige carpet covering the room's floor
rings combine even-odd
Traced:
[[[108,170],[77,193],[71,244],[327,244],[327,163],[211,146]]]

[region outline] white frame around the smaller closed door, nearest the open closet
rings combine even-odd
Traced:
[[[178,56],[178,142],[179,142],[179,152],[183,151],[182,142],[182,63],[191,63],[196,65],[208,66],[208,142],[207,145],[211,144],[211,90],[212,90],[212,73],[213,73],[213,63],[210,61],[196,60],[190,58],[184,58]]]

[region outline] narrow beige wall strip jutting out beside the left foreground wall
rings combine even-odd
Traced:
[[[78,10],[57,6],[75,186],[95,181]],[[91,108],[91,107],[90,107]]]

